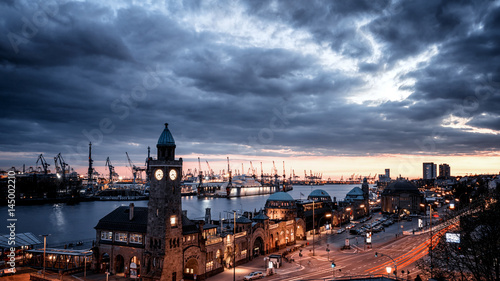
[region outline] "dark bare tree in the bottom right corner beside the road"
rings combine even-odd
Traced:
[[[460,243],[441,237],[420,269],[436,280],[500,280],[500,204],[499,188],[492,196],[474,198],[462,210],[460,224],[451,232],[460,234]]]

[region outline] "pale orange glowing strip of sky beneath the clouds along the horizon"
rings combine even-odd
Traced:
[[[188,169],[194,171],[198,169],[197,155],[176,155],[176,158],[182,157],[184,160],[184,172]],[[219,155],[200,155],[201,169],[208,171],[206,160],[208,160],[212,170],[218,174],[223,169],[227,169],[227,156]],[[329,177],[338,180],[341,177],[349,178],[351,175],[361,175],[371,177],[375,174],[383,174],[385,169],[390,169],[391,178],[401,175],[404,178],[418,179],[422,178],[422,163],[434,162],[434,164],[447,163],[451,168],[452,176],[464,176],[466,174],[500,174],[500,156],[417,156],[417,155],[384,155],[384,156],[307,156],[307,157],[253,157],[247,158],[241,155],[229,155],[231,169],[233,171],[243,169],[247,173],[250,168],[250,161],[257,174],[260,175],[260,162],[265,173],[271,173],[275,161],[278,175],[283,173],[283,161],[285,161],[285,173],[287,177],[291,169],[295,175],[303,178],[304,170],[310,173],[322,173],[323,179]],[[94,165],[96,170],[103,175],[107,175],[107,169],[104,166]],[[124,177],[132,177],[128,167],[115,164],[116,172]],[[76,169],[80,174],[86,174],[86,168]]]

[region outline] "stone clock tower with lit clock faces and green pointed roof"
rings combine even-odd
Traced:
[[[149,159],[150,191],[146,233],[145,280],[178,281],[182,276],[182,158],[175,160],[175,141],[165,123],[157,159]]]

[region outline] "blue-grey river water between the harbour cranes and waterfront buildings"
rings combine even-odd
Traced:
[[[345,195],[357,185],[320,185],[294,186],[289,191],[294,199],[305,199],[311,191],[322,189],[332,199],[343,200]],[[212,219],[219,216],[232,216],[232,211],[254,211],[264,208],[269,195],[248,196],[240,198],[210,198],[198,199],[196,196],[182,198],[182,209],[187,210],[190,219],[203,219],[205,209],[211,208]],[[131,202],[137,207],[147,207],[148,201],[92,201],[81,202],[76,205],[46,204],[37,206],[16,207],[16,233],[32,232],[36,236],[50,234],[47,244],[60,245],[67,242],[93,239],[96,234],[94,227],[99,219],[119,206],[128,206]],[[231,212],[231,214],[227,213]],[[0,207],[0,218],[7,225],[7,206]],[[7,228],[2,227],[0,234],[7,234]],[[40,237],[40,240],[42,238]]]

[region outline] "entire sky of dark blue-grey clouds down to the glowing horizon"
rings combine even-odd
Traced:
[[[498,173],[500,2],[457,2],[2,1],[0,167],[143,164],[168,122],[186,169]]]

